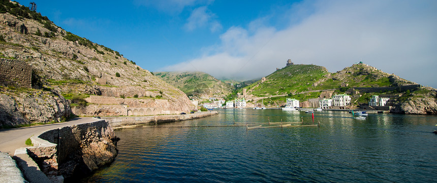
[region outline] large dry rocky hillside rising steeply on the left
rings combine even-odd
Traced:
[[[134,61],[56,26],[40,13],[7,1],[0,1],[0,13],[0,57],[24,62],[33,68],[33,89],[17,92],[17,88],[11,86],[1,87],[0,107],[7,112],[0,117],[2,124],[11,119],[27,124],[60,121],[69,118],[70,103],[73,108],[82,108],[73,110],[78,113],[75,115],[114,114],[101,114],[96,109],[99,105],[87,103],[85,99],[90,95],[139,98],[143,102],[139,102],[138,107],[160,107],[173,113],[194,107],[182,91],[154,77]],[[41,99],[35,98],[37,95]],[[42,95],[53,96],[53,99]],[[53,112],[51,115],[30,112],[31,108],[38,108],[36,106],[40,107],[36,111]],[[47,119],[37,117],[41,115]]]

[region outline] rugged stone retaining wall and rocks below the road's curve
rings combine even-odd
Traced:
[[[66,180],[111,163],[118,153],[117,137],[105,120],[49,130],[38,136],[40,140],[31,139],[36,146],[27,151],[41,170],[48,177],[62,175]]]

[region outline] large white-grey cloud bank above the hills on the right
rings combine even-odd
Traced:
[[[304,6],[302,5],[304,4]],[[265,20],[248,28],[234,26],[220,37],[214,52],[165,70],[205,71],[214,77],[252,79],[285,66],[317,64],[335,72],[363,60],[388,73],[437,87],[437,2],[315,1],[294,5],[287,28],[276,30]],[[301,8],[304,8],[303,10]],[[254,28],[255,27],[255,28]],[[205,49],[210,50],[210,49]]]

